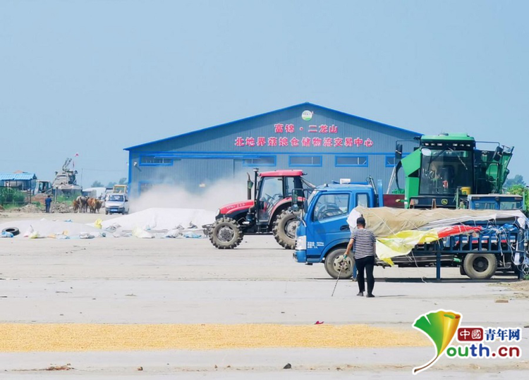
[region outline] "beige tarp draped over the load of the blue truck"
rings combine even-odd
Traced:
[[[355,207],[347,223],[356,228],[356,219],[364,216],[367,228],[377,238],[394,235],[400,231],[430,229],[471,221],[517,220],[527,225],[528,219],[518,210],[468,210],[468,209],[394,209],[391,207]]]

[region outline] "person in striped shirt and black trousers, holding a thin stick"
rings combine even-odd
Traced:
[[[365,291],[364,283],[364,269],[367,277],[367,297],[375,297],[373,295],[373,288],[375,287],[375,277],[373,277],[373,269],[375,267],[375,256],[377,255],[377,240],[375,234],[365,228],[365,219],[363,216],[356,219],[356,227],[351,231],[351,240],[347,245],[347,250],[343,258],[345,259],[351,248],[353,248],[356,269],[358,275],[358,296],[363,297]]]

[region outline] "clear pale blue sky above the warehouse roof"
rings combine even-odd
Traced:
[[[123,147],[301,102],[516,147],[529,179],[529,1],[0,2],[0,171],[83,185]]]

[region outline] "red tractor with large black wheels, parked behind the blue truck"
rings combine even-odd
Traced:
[[[265,171],[248,174],[248,200],[226,204],[217,211],[215,222],[207,227],[209,240],[220,250],[241,244],[243,235],[272,233],[277,243],[293,250],[296,243],[298,212],[292,209],[292,192],[314,188],[300,170]],[[254,183],[257,186],[254,188]],[[254,196],[252,200],[252,188]]]

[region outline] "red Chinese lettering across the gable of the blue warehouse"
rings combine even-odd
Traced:
[[[305,111],[306,112],[306,111]],[[312,118],[312,115],[310,116]],[[298,128],[303,131],[303,127]],[[370,138],[336,137],[336,125],[309,125],[308,136],[294,137],[296,131],[293,124],[274,124],[274,134],[269,136],[243,137],[235,139],[236,147],[372,147],[374,142]],[[290,136],[289,136],[290,135]],[[314,136],[314,137],[312,137]]]

